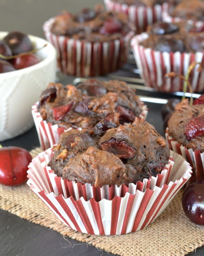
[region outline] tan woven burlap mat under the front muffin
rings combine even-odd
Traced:
[[[40,149],[36,148],[31,153],[34,157],[39,152]],[[149,227],[120,236],[92,236],[68,228],[26,184],[0,186],[0,208],[113,254],[181,256],[204,245],[204,227],[194,225],[186,218],[182,210],[182,192]]]

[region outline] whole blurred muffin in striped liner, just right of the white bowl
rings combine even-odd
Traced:
[[[126,63],[135,27],[126,15],[99,6],[76,15],[63,11],[45,22],[43,29],[57,49],[58,67],[63,73],[97,76]]]

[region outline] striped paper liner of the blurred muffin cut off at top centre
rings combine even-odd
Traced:
[[[106,9],[109,11],[123,12],[128,15],[129,20],[136,26],[137,34],[146,31],[147,26],[162,19],[164,4],[156,4],[153,7],[127,5],[104,0]],[[168,3],[165,3],[168,6]]]

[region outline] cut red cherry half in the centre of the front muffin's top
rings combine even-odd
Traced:
[[[135,156],[134,147],[128,145],[125,140],[119,141],[116,138],[111,138],[101,143],[100,147],[101,150],[112,152],[122,159],[131,159]]]

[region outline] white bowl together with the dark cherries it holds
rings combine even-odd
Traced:
[[[32,127],[31,107],[55,75],[52,44],[21,32],[0,32],[0,141]]]

